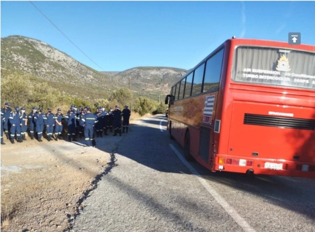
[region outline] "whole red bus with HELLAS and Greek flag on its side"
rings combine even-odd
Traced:
[[[211,171],[315,178],[315,46],[230,39],[165,98],[167,130]]]

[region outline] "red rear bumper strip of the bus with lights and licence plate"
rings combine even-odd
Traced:
[[[213,171],[315,178],[315,162],[217,154]]]

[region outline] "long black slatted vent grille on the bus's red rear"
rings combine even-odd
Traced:
[[[244,124],[267,127],[284,127],[311,131],[314,131],[315,129],[315,120],[267,116],[259,114],[245,114]]]

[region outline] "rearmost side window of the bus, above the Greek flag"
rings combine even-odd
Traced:
[[[219,89],[224,49],[207,60],[203,93]]]

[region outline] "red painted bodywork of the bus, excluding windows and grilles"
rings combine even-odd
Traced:
[[[231,79],[237,46],[265,46],[315,52],[315,46],[260,40],[227,40],[219,90],[202,93],[169,105],[168,129],[184,146],[190,133],[190,153],[211,171],[315,178],[315,131],[245,124],[244,115],[281,112],[293,119],[315,120],[315,91],[235,82]],[[220,46],[221,47],[221,46]],[[210,125],[203,123],[205,99],[214,95]],[[287,117],[287,116],[285,116]],[[214,132],[214,121],[220,121]],[[203,129],[202,129],[203,128]],[[209,131],[209,159],[200,156],[203,133]]]

